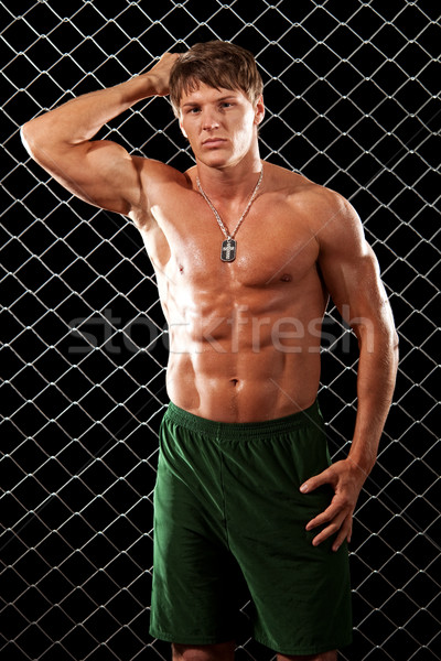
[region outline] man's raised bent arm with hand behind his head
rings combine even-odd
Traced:
[[[140,171],[146,159],[131,156],[99,129],[138,101],[169,94],[176,54],[165,53],[147,73],[108,89],[72,99],[26,122],[21,130],[30,155],[65,188],[95,206],[129,215],[141,204]]]

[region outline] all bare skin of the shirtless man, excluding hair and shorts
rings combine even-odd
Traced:
[[[196,165],[181,173],[132,156],[99,128],[137,101],[169,91],[176,55],[116,87],[85,95],[22,128],[35,159],[63,186],[129,217],[154,267],[170,327],[168,393],[182,409],[223,422],[262,421],[311,405],[320,379],[320,329],[330,296],[359,345],[358,408],[346,459],[300,487],[330,484],[334,497],[308,522],[318,545],[351,540],[362,486],[374,466],[397,370],[397,335],[377,260],[361,220],[337,193],[259,156],[262,98],[200,85],[181,98],[180,126]],[[237,258],[219,259],[224,239],[201,184],[233,230],[263,167],[263,181],[236,239]],[[173,658],[232,659],[234,643],[173,647]],[[306,657],[282,657],[306,659]],[[334,651],[308,657],[333,661]]]

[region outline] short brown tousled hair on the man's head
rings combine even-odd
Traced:
[[[200,83],[241,89],[252,105],[263,90],[252,53],[223,41],[194,44],[174,63],[170,73],[170,100],[176,117],[182,95],[197,89]]]

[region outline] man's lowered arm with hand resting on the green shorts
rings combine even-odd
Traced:
[[[306,530],[322,525],[313,544],[335,535],[332,549],[336,551],[344,540],[351,541],[357,498],[376,460],[395,389],[398,336],[377,259],[356,212],[331,191],[323,191],[323,202],[315,215],[321,219],[315,229],[319,268],[333,302],[358,340],[357,415],[347,458],[312,476],[300,490],[308,494],[323,484],[333,487],[331,505],[309,521]]]

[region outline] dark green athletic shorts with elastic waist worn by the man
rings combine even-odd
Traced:
[[[352,639],[347,546],[312,545],[305,524],[331,487],[315,403],[258,423],[219,423],[173,403],[161,423],[150,633],[182,644],[235,639],[244,587],[256,640],[316,654]]]

